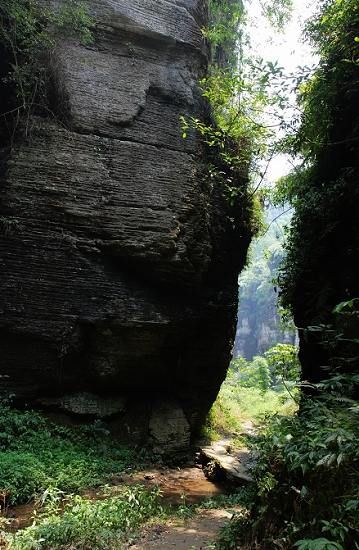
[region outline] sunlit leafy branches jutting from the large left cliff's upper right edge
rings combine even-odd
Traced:
[[[261,173],[260,161],[267,154],[275,135],[262,118],[269,107],[281,101],[272,94],[273,80],[281,69],[263,59],[243,59],[240,66],[214,65],[201,81],[202,93],[213,109],[214,124],[196,118],[183,121],[184,135],[194,127],[218,154],[228,174],[227,188],[235,188],[236,173],[250,174],[254,182]]]

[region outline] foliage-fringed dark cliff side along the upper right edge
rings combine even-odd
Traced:
[[[318,8],[306,35],[320,62],[299,86],[300,125],[285,140],[301,165],[280,182],[278,193],[279,201],[295,207],[282,299],[308,324],[328,320],[338,301],[357,293],[359,5],[321,0]]]

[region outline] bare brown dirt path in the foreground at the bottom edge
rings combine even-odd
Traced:
[[[237,510],[239,511],[239,508]],[[128,550],[210,550],[233,511],[199,510],[187,520],[147,527]]]

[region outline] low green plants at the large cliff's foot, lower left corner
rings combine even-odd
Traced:
[[[162,508],[159,491],[124,487],[80,496],[128,467],[142,467],[141,452],[119,445],[101,423],[56,425],[34,411],[6,404],[0,415],[0,497],[2,506],[37,501],[33,524],[6,534],[0,515],[0,546],[14,550],[120,549],[140,524]]]

